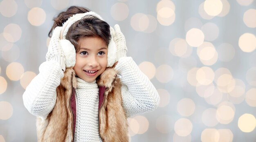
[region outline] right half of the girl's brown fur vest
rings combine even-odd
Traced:
[[[105,142],[129,142],[128,122],[122,106],[121,81],[116,78],[117,71],[106,69],[97,81],[106,86],[105,101],[99,110],[100,135]]]

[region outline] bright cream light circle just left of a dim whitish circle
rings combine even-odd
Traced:
[[[204,33],[200,29],[190,29],[186,33],[186,42],[191,47],[199,47],[204,42]]]

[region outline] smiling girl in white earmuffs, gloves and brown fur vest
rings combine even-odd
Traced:
[[[159,95],[115,30],[83,7],[54,18],[46,62],[23,94],[39,142],[128,142],[127,118],[153,111]]]

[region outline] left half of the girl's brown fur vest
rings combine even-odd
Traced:
[[[73,140],[72,120],[74,116],[70,110],[70,97],[73,90],[70,85],[71,81],[73,87],[76,87],[74,70],[67,68],[61,79],[61,85],[56,88],[57,99],[53,110],[45,120],[37,118],[38,142],[71,142]]]

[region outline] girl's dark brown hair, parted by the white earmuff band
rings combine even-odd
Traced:
[[[85,13],[88,11],[90,10],[85,7],[72,6],[66,11],[59,13],[58,16],[54,18],[54,24],[49,31],[48,36],[51,37],[54,28],[57,26],[62,26],[63,23],[65,23],[68,18],[74,14]],[[74,45],[76,52],[78,52],[78,40],[85,37],[100,37],[108,45],[111,39],[110,26],[107,22],[100,20],[95,16],[87,15],[81,20],[72,24],[72,26],[67,31],[66,39]]]

